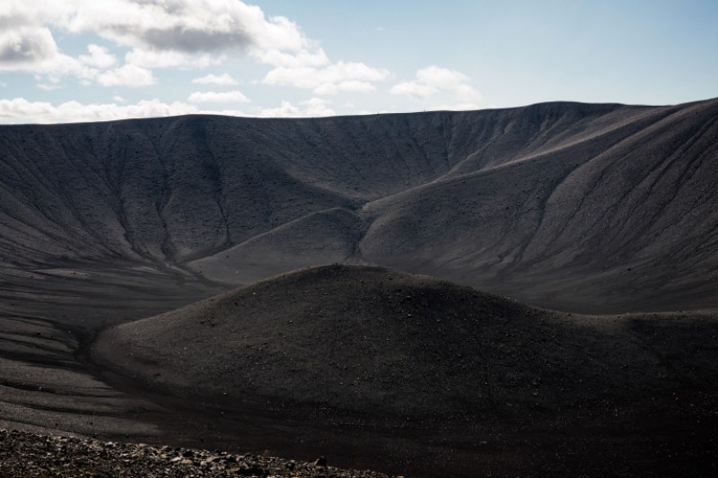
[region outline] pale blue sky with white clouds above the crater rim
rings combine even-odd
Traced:
[[[0,0],[0,123],[718,96],[714,0]]]

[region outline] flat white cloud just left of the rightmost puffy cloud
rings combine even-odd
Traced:
[[[389,71],[358,62],[337,62],[314,66],[277,66],[267,73],[262,83],[291,85],[314,91],[316,94],[336,94],[338,91],[372,91],[377,83],[389,77]]]

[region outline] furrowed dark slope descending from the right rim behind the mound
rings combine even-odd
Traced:
[[[714,306],[718,101],[367,204],[363,260],[560,309]]]

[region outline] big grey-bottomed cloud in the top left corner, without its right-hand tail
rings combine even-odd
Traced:
[[[261,56],[299,52],[310,44],[295,23],[267,18],[258,6],[240,0],[3,0],[0,70],[75,75],[88,83],[98,76],[97,68],[116,64],[112,52],[97,45],[79,58],[62,54],[51,30],[109,39],[130,48],[126,65],[144,69],[205,67],[221,63],[228,52]],[[123,68],[101,75],[101,84],[131,73]]]

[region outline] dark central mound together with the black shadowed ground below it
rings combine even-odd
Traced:
[[[334,265],[115,326],[92,356],[190,440],[416,476],[709,475],[717,334],[709,315],[572,316]]]

